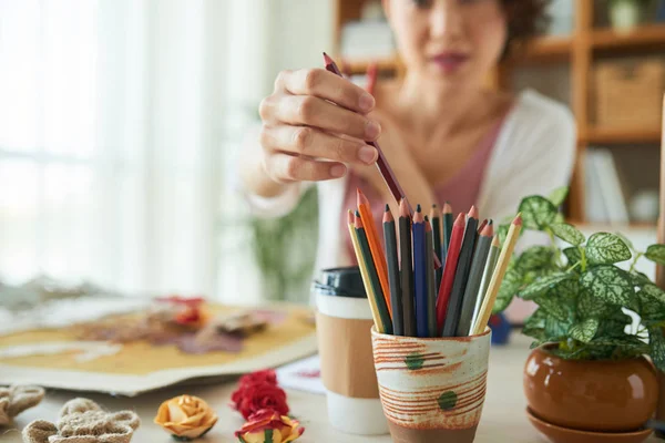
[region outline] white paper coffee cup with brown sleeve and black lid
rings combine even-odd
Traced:
[[[360,271],[357,267],[326,270],[314,291],[330,424],[349,434],[387,434],[371,353],[374,322]]]

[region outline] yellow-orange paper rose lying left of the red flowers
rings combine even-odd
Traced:
[[[160,405],[154,422],[178,440],[196,439],[217,423],[217,414],[194,395],[180,395]]]

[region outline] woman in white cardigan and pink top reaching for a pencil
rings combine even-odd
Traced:
[[[544,96],[484,86],[492,66],[532,37],[540,0],[383,0],[407,73],[372,94],[323,69],[282,72],[260,105],[259,143],[242,179],[257,214],[279,216],[319,186],[316,269],[355,262],[346,212],[356,187],[377,220],[396,202],[375,162],[380,142],[409,202],[472,204],[481,217],[514,214],[522,197],[566,185],[574,162],[570,112]]]

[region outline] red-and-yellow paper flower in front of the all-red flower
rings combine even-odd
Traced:
[[[260,410],[236,431],[243,443],[287,443],[298,439],[305,432],[300,422],[273,410]]]

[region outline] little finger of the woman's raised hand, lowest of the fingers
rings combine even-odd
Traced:
[[[265,169],[278,183],[323,182],[342,177],[347,168],[337,162],[319,162],[276,153],[265,158]]]

